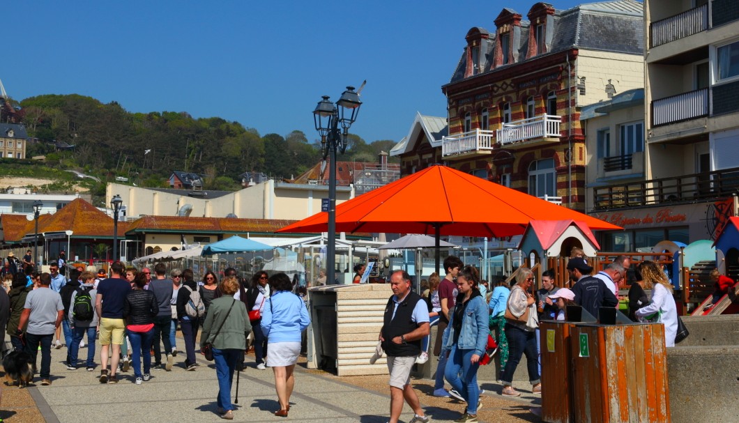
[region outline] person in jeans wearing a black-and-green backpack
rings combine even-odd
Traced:
[[[72,292],[70,300],[69,326],[72,328],[72,345],[69,345],[69,370],[77,368],[77,356],[80,351],[80,343],[87,334],[87,371],[95,370],[95,336],[98,332],[98,314],[95,313],[93,298],[98,294],[95,289],[95,273],[82,272],[80,275],[82,285]]]

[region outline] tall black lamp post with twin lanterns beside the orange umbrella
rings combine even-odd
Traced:
[[[361,91],[361,89],[360,89]],[[347,151],[347,136],[349,128],[357,119],[359,107],[362,102],[359,94],[354,91],[353,86],[347,86],[347,91],[341,94],[341,98],[333,105],[327,95],[319,101],[316,110],[313,111],[313,120],[316,123],[316,131],[321,135],[321,153],[324,159],[329,157],[329,179],[328,179],[328,246],[326,258],[326,280],[327,283],[336,282],[336,151],[344,154]],[[341,123],[343,133],[339,131]]]

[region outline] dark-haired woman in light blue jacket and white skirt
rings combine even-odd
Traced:
[[[293,370],[300,354],[301,333],[310,324],[303,300],[293,294],[293,283],[285,273],[270,277],[270,298],[262,312],[262,332],[267,337],[267,365],[275,375],[280,409],[275,416],[287,417],[290,395],[295,387]]]

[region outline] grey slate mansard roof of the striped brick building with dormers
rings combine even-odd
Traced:
[[[510,9],[504,10],[515,13]],[[640,1],[601,1],[580,4],[568,10],[556,10],[554,13],[554,32],[549,51],[543,55],[526,59],[528,27],[530,25],[528,21],[521,21],[520,44],[514,46],[519,53],[519,60],[495,69],[491,69],[495,46],[494,32],[491,32],[490,38],[483,39],[483,45],[480,48],[480,52],[484,53],[486,58],[483,74],[494,72],[497,69],[506,69],[508,66],[515,66],[517,63],[536,60],[542,56],[563,52],[567,49],[592,49],[633,55],[644,54],[644,4]],[[454,68],[450,83],[464,79],[465,67],[466,48]]]

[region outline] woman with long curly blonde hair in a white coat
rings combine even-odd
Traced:
[[[664,345],[675,346],[678,332],[678,309],[672,297],[672,283],[653,261],[645,261],[639,266],[644,289],[652,289],[651,303],[641,307],[634,314],[641,320],[657,320],[664,325]],[[655,317],[652,317],[655,315]]]

